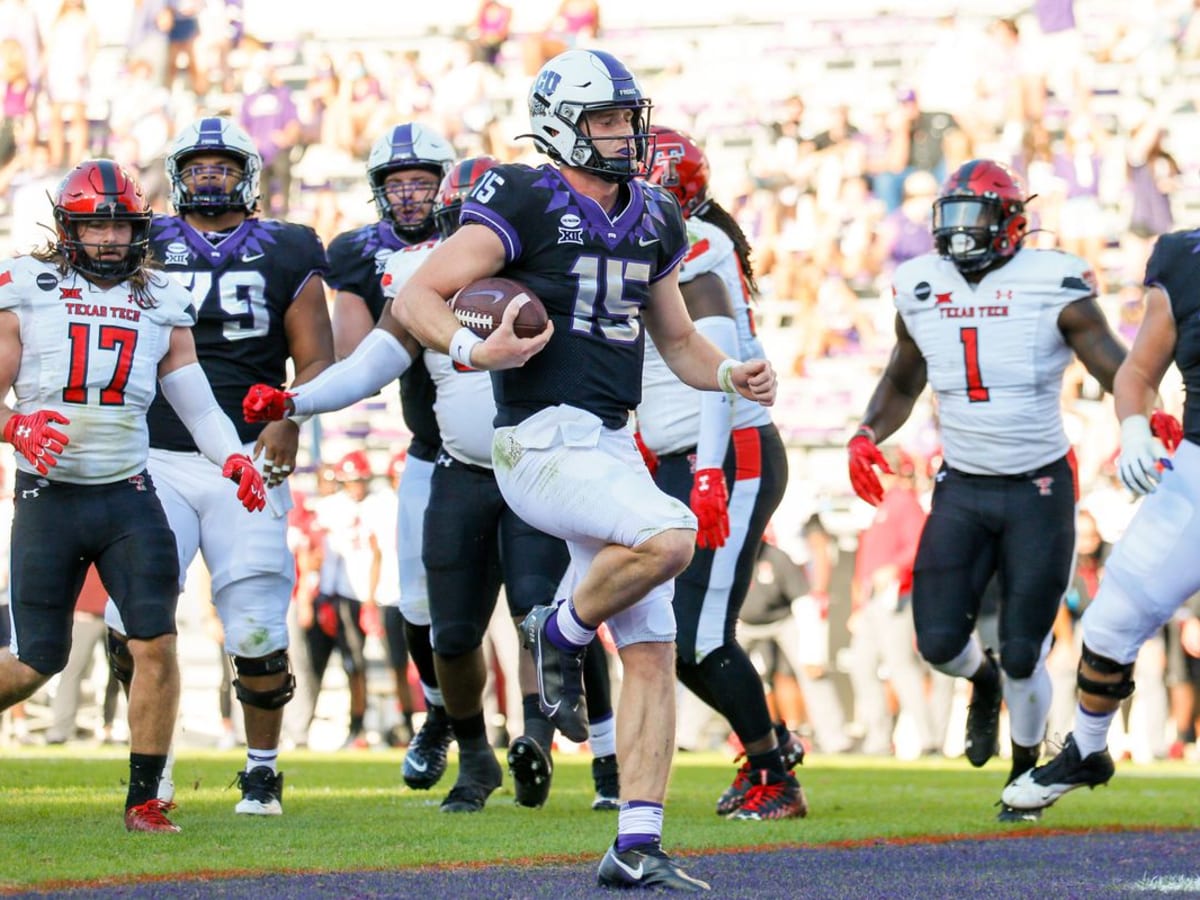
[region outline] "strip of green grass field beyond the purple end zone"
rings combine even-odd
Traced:
[[[481,815],[450,816],[432,792],[400,780],[401,751],[289,752],[281,818],[235,816],[240,754],[185,754],[175,767],[179,835],[131,835],[121,823],[127,761],[120,751],[10,750],[0,758],[0,892],[144,875],[396,869],[480,860],[598,859],[614,812],[593,812],[589,757],[559,756],[550,803],[528,810],[505,785]],[[1112,784],[1080,791],[1040,824],[1001,826],[992,804],[1007,774],[964,760],[899,763],[814,758],[799,769],[805,820],[732,822],[713,804],[734,772],[715,754],[677,758],[665,845],[674,852],[817,845],[1013,829],[1200,827],[1200,769],[1118,764]]]

